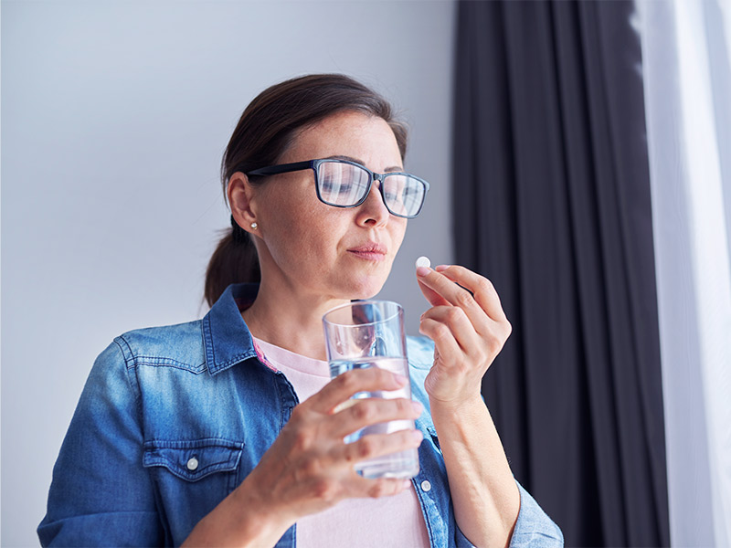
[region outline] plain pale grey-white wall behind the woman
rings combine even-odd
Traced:
[[[450,262],[451,1],[2,3],[2,539],[37,544],[95,356],[206,312],[228,227],[218,165],[260,90],[341,71],[382,91],[432,184],[381,296],[408,329],[426,254]]]

